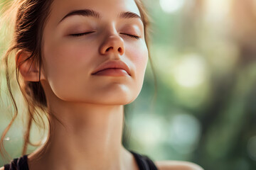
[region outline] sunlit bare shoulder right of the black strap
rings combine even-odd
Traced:
[[[198,164],[183,161],[156,161],[154,162],[159,170],[203,170]]]

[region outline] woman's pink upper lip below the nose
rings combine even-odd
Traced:
[[[103,69],[124,69],[129,75],[131,75],[129,67],[121,60],[108,60],[107,62],[103,62],[95,69],[94,72],[92,72],[92,74],[97,74],[97,72],[100,72]]]

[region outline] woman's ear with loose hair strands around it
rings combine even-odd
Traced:
[[[15,57],[16,67],[19,67],[18,70],[25,81],[39,81],[39,67],[36,65],[33,57],[28,59],[30,56],[31,52],[18,50]],[[44,79],[42,72],[40,77],[41,79]]]

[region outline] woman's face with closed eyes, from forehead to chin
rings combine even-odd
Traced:
[[[138,16],[134,0],[54,0],[43,31],[43,88],[63,101],[134,101],[148,60]],[[92,74],[108,61],[124,62],[129,74],[122,69]]]

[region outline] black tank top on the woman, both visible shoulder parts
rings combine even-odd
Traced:
[[[134,155],[139,170],[158,170],[154,162],[144,154],[138,154],[137,152],[129,150]],[[4,165],[4,170],[29,170],[28,169],[28,155],[13,159],[10,164]]]

